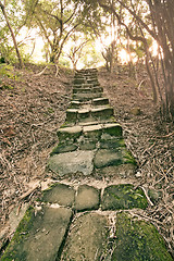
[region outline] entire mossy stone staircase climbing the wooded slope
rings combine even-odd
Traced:
[[[55,182],[29,207],[1,260],[170,261],[97,70],[77,71],[48,169]]]

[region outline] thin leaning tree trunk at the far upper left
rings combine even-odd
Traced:
[[[11,25],[10,25],[10,22],[9,22],[9,18],[8,18],[8,14],[5,12],[5,8],[4,8],[4,5],[1,2],[0,2],[0,8],[2,10],[3,16],[5,18],[7,25],[9,27],[9,30],[10,30],[12,39],[13,39],[13,44],[14,44],[16,55],[17,55],[17,59],[18,59],[20,67],[23,67],[23,61],[22,61],[22,58],[21,58],[21,54],[20,54],[20,50],[18,50],[18,46],[17,46],[17,42],[16,42],[16,39],[15,39],[15,35],[13,33],[13,29],[12,29]]]

